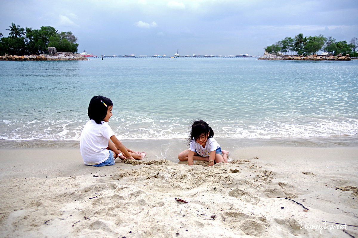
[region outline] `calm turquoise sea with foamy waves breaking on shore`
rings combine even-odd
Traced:
[[[240,58],[0,61],[0,139],[79,140],[92,96],[113,101],[120,139],[186,138],[191,120],[215,137],[358,132],[358,62]]]

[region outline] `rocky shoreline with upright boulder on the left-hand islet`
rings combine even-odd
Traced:
[[[32,54],[32,55],[9,55],[5,54],[0,56],[0,60],[88,60],[86,57],[72,52],[57,52],[55,47],[47,48],[48,55],[46,54]]]

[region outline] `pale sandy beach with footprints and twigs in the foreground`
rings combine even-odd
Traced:
[[[147,156],[106,167],[77,141],[1,141],[0,236],[358,237],[357,146],[217,140],[212,167],[177,163],[179,139],[123,140]]]

